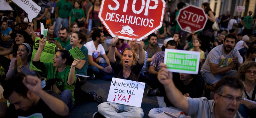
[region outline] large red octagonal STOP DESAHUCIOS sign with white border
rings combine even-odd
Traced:
[[[138,41],[163,24],[164,0],[102,0],[99,18],[112,37]]]

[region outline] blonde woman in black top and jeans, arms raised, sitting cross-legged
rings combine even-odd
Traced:
[[[145,61],[145,52],[142,40],[136,41],[139,45],[139,55],[137,63],[135,62],[135,52],[132,48],[125,48],[122,52],[122,58],[120,63],[116,62],[115,58],[115,46],[118,41],[118,36],[112,38],[109,49],[109,62],[114,70],[116,78],[122,78],[127,80],[137,81],[139,78],[140,70],[143,68]],[[113,102],[104,102],[98,106],[98,111],[95,115],[103,115],[106,118],[142,118],[144,112],[140,107],[132,107],[128,105],[117,104]]]

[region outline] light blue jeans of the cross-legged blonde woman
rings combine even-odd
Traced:
[[[140,107],[104,102],[98,106],[98,111],[106,118],[142,118],[144,112]]]

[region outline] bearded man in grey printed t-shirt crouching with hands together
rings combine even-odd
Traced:
[[[237,76],[237,71],[242,58],[236,48],[236,36],[228,34],[223,44],[213,48],[206,58],[206,61],[202,67],[201,73],[204,77],[206,89],[214,91],[214,88],[218,81],[223,76]],[[236,70],[232,70],[232,69]],[[206,91],[204,96],[210,97],[210,91]]]

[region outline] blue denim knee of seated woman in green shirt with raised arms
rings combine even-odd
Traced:
[[[60,93],[61,100],[68,106],[69,112],[71,112],[74,108],[73,97],[70,90],[64,90]]]

